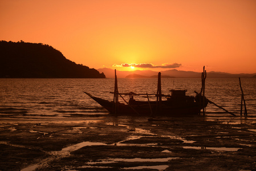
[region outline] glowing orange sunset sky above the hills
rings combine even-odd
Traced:
[[[256,73],[255,0],[0,0],[0,25],[90,68]]]

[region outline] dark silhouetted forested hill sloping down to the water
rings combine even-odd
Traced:
[[[0,78],[105,78],[42,43],[0,42]]]

